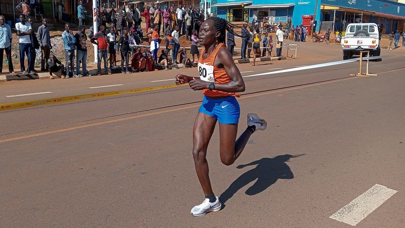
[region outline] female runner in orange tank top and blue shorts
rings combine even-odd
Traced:
[[[267,126],[266,121],[256,114],[248,114],[248,127],[236,140],[240,109],[235,97],[240,96],[237,92],[245,91],[245,83],[225,46],[226,30],[233,32],[230,26],[232,25],[219,17],[210,17],[201,24],[199,43],[204,48],[198,61],[199,78],[184,74],[176,76],[176,85],[189,83],[192,90],[203,90],[205,95],[194,122],[192,153],[206,199],[191,209],[194,216],[204,216],[208,212],[221,209],[221,202],[211,187],[206,159],[208,143],[217,120],[220,157],[225,165],[235,162],[253,132],[265,130]]]

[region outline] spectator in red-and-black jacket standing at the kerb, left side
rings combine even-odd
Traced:
[[[100,26],[100,31],[94,34],[90,42],[97,45],[97,75],[101,75],[101,59],[104,61],[104,73],[111,74],[107,68],[107,47],[108,40],[107,34],[105,34],[105,26]]]

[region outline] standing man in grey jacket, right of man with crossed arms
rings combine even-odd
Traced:
[[[51,54],[52,44],[51,36],[49,34],[48,19],[42,19],[42,25],[38,27],[37,39],[39,47],[41,48],[41,71],[48,71],[48,59]],[[46,64],[46,66],[45,66]]]

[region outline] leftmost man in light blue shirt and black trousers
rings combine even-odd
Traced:
[[[12,74],[14,72],[13,61],[11,58],[11,42],[13,40],[13,35],[11,34],[10,25],[6,24],[6,18],[0,16],[0,56],[2,56],[2,61],[0,61],[0,73],[3,72],[3,53],[6,51],[7,61],[9,62],[9,72]]]

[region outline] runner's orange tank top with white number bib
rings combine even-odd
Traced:
[[[214,64],[215,58],[217,57],[217,53],[223,45],[224,45],[223,43],[218,44],[217,48],[206,59],[203,59],[203,53],[205,51],[205,48],[201,50],[198,60],[198,74],[201,80],[218,84],[226,84],[232,81],[231,78],[229,78],[228,74],[226,74],[225,69],[217,68]],[[203,90],[203,93],[204,95],[209,97],[222,97],[222,96],[240,97],[238,93],[229,93],[217,90],[210,91],[209,89]]]

